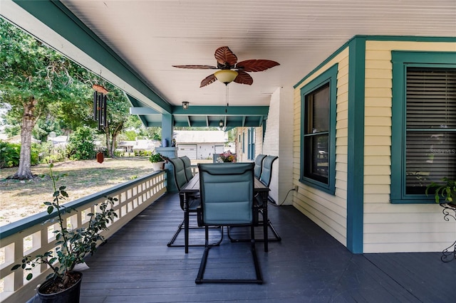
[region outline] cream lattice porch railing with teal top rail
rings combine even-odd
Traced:
[[[88,223],[86,214],[95,212],[97,204],[107,196],[118,198],[114,206],[118,218],[102,233],[108,239],[164,193],[166,173],[159,171],[66,203],[65,206],[76,211],[64,217],[73,228],[80,228]],[[11,267],[21,263],[24,255],[34,256],[56,249],[53,237],[56,222],[49,220],[55,216],[56,213],[38,213],[0,227],[0,302],[26,302],[35,294],[38,283],[51,273],[47,265],[37,266],[33,269],[33,279],[26,281],[23,270],[13,272]]]

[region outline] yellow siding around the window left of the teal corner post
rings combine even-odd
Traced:
[[[300,89],[321,73],[338,63],[337,74],[337,122],[336,122],[336,194],[330,195],[299,182],[301,146],[301,95]],[[294,193],[294,206],[314,220],[338,241],[346,245],[346,188],[348,144],[348,48],[326,63],[310,78],[296,87],[294,93],[294,184],[299,184]]]

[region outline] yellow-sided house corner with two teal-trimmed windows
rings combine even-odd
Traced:
[[[455,179],[455,38],[356,36],[294,88],[296,208],[352,252],[454,242],[424,191]]]

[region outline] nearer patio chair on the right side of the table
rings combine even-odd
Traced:
[[[259,178],[259,181],[261,181],[262,184],[266,185],[269,187],[271,185],[271,178],[272,178],[272,164],[274,164],[274,161],[276,159],[279,159],[278,156],[265,156],[263,160],[263,165],[261,169],[261,176]],[[254,199],[254,221],[257,223],[256,225],[263,226],[264,220],[259,220],[259,213],[262,214],[262,209],[263,209],[263,199],[261,196],[255,196]],[[267,239],[268,241],[281,241],[281,237],[279,233],[277,233],[276,229],[274,228],[274,225],[272,225],[271,220],[267,220],[266,224],[268,227],[271,229],[274,238],[269,238]],[[230,233],[229,233],[229,228],[228,228],[228,237],[232,242],[245,242],[248,241],[249,239],[236,239],[233,238]],[[257,241],[264,241],[265,239],[258,239]]]

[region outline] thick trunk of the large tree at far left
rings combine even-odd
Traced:
[[[36,124],[35,106],[37,100],[31,96],[28,102],[24,102],[24,115],[22,115],[21,126],[21,155],[19,168],[13,179],[33,179],[36,175],[31,173],[31,131]]]

